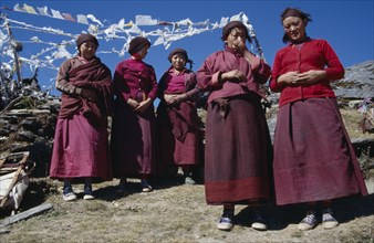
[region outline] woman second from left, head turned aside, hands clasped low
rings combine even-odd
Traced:
[[[142,179],[143,192],[152,191],[148,177],[156,170],[155,112],[157,80],[153,66],[143,62],[150,42],[137,36],[129,42],[131,57],[117,64],[114,73],[114,115],[112,160],[114,177],[120,178],[118,193],[126,178]]]

